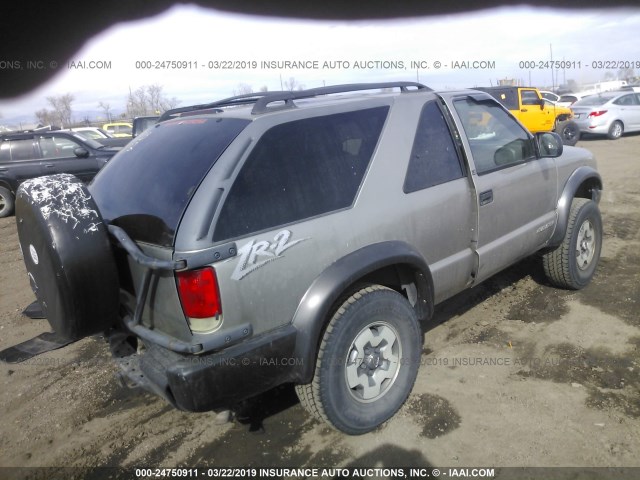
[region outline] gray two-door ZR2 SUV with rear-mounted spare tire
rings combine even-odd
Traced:
[[[365,433],[410,394],[434,305],[535,253],[562,288],[598,263],[592,155],[487,93],[340,85],[167,117],[88,190],[25,182],[17,221],[56,333],[106,332],[124,375],[179,409],[293,383]]]

